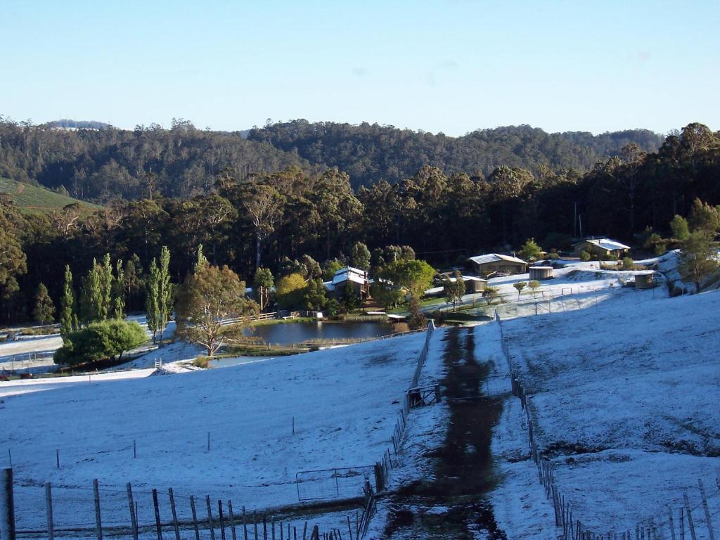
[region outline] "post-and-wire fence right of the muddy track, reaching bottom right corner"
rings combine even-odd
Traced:
[[[503,333],[503,324],[497,311],[495,321],[500,328],[503,356],[510,369],[512,392],[521,400],[525,414],[530,454],[538,469],[538,478],[544,486],[546,497],[553,505],[555,524],[562,527],[563,540],[632,540],[633,538],[634,540],[715,540],[714,531],[719,529],[720,521],[720,477],[714,479],[716,489],[709,494],[705,490],[703,481],[698,479],[698,493],[683,492],[683,505],[669,504],[665,515],[658,514],[652,518],[638,519],[634,528],[626,528],[614,523],[590,526],[588,521],[583,521],[574,514],[572,502],[565,497],[555,481],[552,462],[542,455],[536,443],[536,430],[530,413],[531,404],[513,366]],[[715,507],[711,508],[711,503],[715,503]]]

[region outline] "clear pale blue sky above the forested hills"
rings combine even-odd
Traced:
[[[717,1],[0,0],[0,114],[720,129]]]

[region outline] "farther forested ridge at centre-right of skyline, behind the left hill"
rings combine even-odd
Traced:
[[[543,168],[586,171],[600,158],[618,156],[629,143],[636,143],[645,152],[657,150],[662,143],[660,135],[648,130],[593,135],[546,133],[521,125],[477,130],[455,138],[377,124],[307,120],[256,128],[248,138],[297,152],[310,163],[346,171],[354,187],[369,186],[381,179],[395,184],[426,165],[447,174],[462,172],[470,176],[489,176],[501,165],[527,168],[534,173]]]

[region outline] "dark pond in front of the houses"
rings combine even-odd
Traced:
[[[248,330],[248,336],[280,345],[307,340],[377,338],[391,333],[390,323],[282,323],[260,325]]]

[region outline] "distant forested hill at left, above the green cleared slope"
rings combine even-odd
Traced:
[[[132,131],[63,130],[0,116],[0,176],[67,190],[86,201],[155,194],[187,199],[210,192],[222,168],[244,176],[289,165],[308,163],[239,132],[198,130],[186,120],[173,120],[169,130],[154,124]]]

